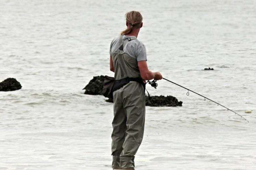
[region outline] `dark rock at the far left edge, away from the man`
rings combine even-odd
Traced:
[[[14,91],[21,88],[20,83],[14,78],[5,79],[0,83],[0,91]]]

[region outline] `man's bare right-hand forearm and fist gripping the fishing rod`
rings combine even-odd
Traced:
[[[152,80],[152,79],[161,80],[162,79],[162,75],[160,72],[152,72],[148,70],[146,61],[139,61],[138,67],[140,70],[141,78],[143,80]]]

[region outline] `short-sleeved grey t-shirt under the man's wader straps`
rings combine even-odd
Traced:
[[[128,39],[130,37],[134,37],[134,36],[124,35],[123,43],[125,42],[126,39]],[[120,38],[120,36],[114,38],[111,42],[110,50],[109,50],[109,54],[111,56],[119,48],[119,38]],[[132,58],[136,58],[137,61],[147,61],[146,47],[138,39],[133,39],[133,40],[129,41],[125,45],[123,52]]]

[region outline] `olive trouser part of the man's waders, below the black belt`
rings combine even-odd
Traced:
[[[142,142],[145,124],[145,92],[129,82],[113,92],[112,168],[134,168],[134,155]]]

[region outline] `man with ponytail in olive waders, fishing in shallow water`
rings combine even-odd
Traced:
[[[113,169],[134,169],[134,155],[144,133],[144,83],[162,79],[160,72],[148,70],[145,45],[137,39],[143,26],[142,15],[130,11],[125,16],[127,29],[114,38],[110,46],[110,70],[116,80],[111,135]]]

